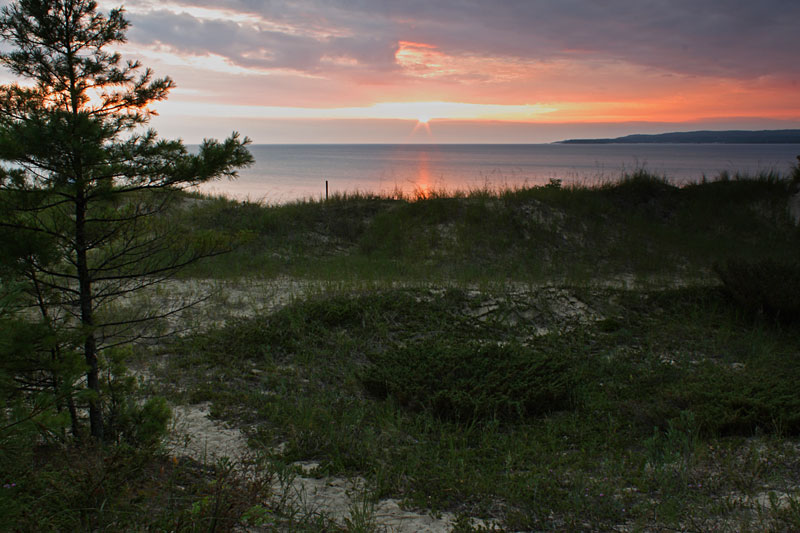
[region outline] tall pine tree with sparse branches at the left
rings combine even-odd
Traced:
[[[191,154],[145,129],[174,84],[109,51],[128,25],[91,0],[19,0],[0,15],[11,49],[0,63],[27,80],[0,87],[0,228],[39,242],[21,259],[28,292],[53,329],[79,336],[98,440],[98,356],[153,318],[110,304],[221,252],[213,238],[175,235],[179,192],[252,163],[236,133]]]

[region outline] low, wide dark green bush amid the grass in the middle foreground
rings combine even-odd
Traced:
[[[522,419],[572,405],[574,365],[515,344],[425,342],[372,357],[365,389],[443,419]]]

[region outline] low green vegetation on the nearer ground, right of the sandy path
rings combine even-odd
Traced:
[[[510,531],[792,530],[798,333],[716,287],[388,289],[187,338],[163,375],[272,461],[412,508]],[[769,491],[791,506],[745,505]]]

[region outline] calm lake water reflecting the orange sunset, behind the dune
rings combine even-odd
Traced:
[[[676,184],[711,179],[722,171],[785,173],[797,163],[797,144],[604,145],[254,145],[256,163],[235,181],[205,192],[283,203],[334,192],[407,194],[428,190],[595,184],[644,168]]]

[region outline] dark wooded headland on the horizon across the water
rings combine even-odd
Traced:
[[[567,139],[556,144],[800,144],[800,130],[685,131],[613,139]]]

